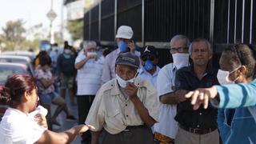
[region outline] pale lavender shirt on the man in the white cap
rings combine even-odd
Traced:
[[[117,49],[106,55],[102,70],[102,84],[115,78],[115,60],[118,58],[120,52],[120,49]],[[135,50],[135,54],[140,56],[140,52],[137,50]]]

